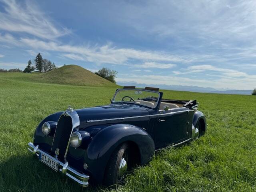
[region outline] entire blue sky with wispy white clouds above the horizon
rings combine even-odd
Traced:
[[[256,87],[255,0],[0,0],[0,68],[40,52],[118,82]]]

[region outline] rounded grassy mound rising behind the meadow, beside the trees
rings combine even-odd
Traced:
[[[78,86],[116,86],[116,84],[77,65],[66,65],[43,74],[32,76],[30,79],[36,82]]]

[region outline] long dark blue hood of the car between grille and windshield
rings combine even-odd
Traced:
[[[111,104],[92,108],[75,110],[80,119],[80,125],[90,120],[124,118],[149,115],[147,108],[134,104]]]

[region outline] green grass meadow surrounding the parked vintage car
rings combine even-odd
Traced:
[[[62,178],[32,157],[27,143],[44,117],[69,104],[108,104],[116,88],[36,83],[28,80],[29,75],[0,73],[0,191],[107,190],[82,189]],[[118,191],[256,191],[256,96],[164,90],[164,98],[197,99],[208,119],[208,132],[194,142],[156,153]]]

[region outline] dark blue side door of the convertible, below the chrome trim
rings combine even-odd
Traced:
[[[159,114],[154,127],[156,148],[177,144],[188,139],[192,123],[189,110],[164,111]],[[192,126],[192,125],[191,125]]]

